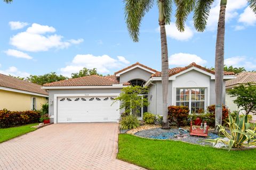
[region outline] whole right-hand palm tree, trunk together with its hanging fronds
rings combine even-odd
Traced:
[[[186,7],[186,5],[177,6],[181,10],[182,22],[184,23],[190,12],[194,11],[193,21],[197,31],[205,30],[207,19],[211,10],[211,5],[214,0],[177,0],[179,2],[186,2],[191,4],[193,9]],[[215,0],[216,1],[216,0]],[[247,0],[249,6],[256,14],[256,0]],[[232,2],[230,2],[232,3]],[[225,15],[226,15],[227,0],[220,1],[220,14],[217,29],[217,40],[215,47],[215,125],[222,123],[222,92],[223,92],[223,66],[224,66],[224,41],[225,41]],[[182,7],[183,6],[183,7]],[[179,18],[179,17],[178,17]],[[177,25],[179,28],[179,25]],[[240,70],[240,69],[239,69]],[[243,68],[241,68],[243,71]],[[217,131],[217,129],[216,129]]]

